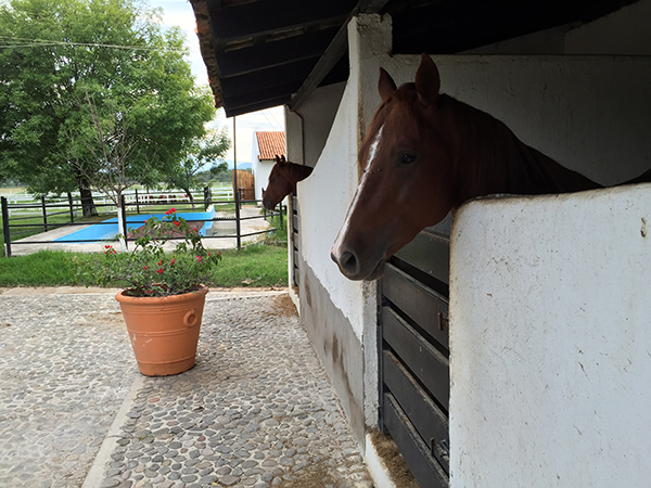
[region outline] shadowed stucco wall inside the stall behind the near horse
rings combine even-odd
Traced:
[[[602,183],[651,168],[651,57],[432,56],[442,92],[481,108],[525,143]],[[366,63],[362,106],[380,103],[378,67],[400,85],[412,81],[420,56],[378,56]]]

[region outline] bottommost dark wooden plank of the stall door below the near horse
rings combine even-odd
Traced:
[[[420,488],[448,488],[447,475],[432,458],[430,448],[420,439],[400,406],[391,394],[384,394],[383,403],[384,424]]]

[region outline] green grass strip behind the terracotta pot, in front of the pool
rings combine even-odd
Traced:
[[[222,251],[208,286],[286,286],[288,249],[254,244],[241,251]],[[79,285],[73,258],[92,259],[92,254],[40,251],[28,256],[0,258],[0,286]],[[117,284],[116,284],[117,286]]]

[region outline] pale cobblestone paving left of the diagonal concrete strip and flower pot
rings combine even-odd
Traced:
[[[0,487],[78,487],[133,382],[110,295],[0,295]]]

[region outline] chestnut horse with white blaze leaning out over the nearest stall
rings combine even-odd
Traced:
[[[363,174],[331,249],[350,280],[380,278],[396,251],[470,198],[602,188],[524,144],[493,116],[439,94],[439,87],[425,54],[416,82],[400,88],[380,68],[382,104],[358,155]]]

